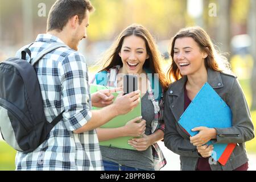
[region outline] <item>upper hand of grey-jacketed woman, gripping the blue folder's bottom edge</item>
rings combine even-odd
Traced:
[[[190,137],[190,142],[193,144],[193,146],[203,146],[205,143],[209,142],[209,140],[216,138],[216,130],[210,129],[208,127],[195,127],[192,129],[192,131],[199,131],[198,134],[196,134],[193,137]]]

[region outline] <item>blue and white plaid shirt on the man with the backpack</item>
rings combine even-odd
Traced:
[[[49,34],[38,35],[30,47],[31,57],[54,42],[63,43]],[[69,47],[57,48],[39,60],[35,70],[47,121],[51,122],[64,110],[63,119],[35,151],[17,152],[16,170],[103,170],[96,130],[72,132],[92,116],[84,56]]]

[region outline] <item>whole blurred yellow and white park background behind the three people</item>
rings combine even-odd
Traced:
[[[0,0],[0,61],[14,56],[36,35],[46,32],[49,10],[55,0]],[[131,23],[148,28],[162,53],[163,68],[171,64],[170,39],[180,28],[201,26],[228,58],[245,93],[256,123],[256,1],[255,0],[91,0],[88,38],[79,51],[85,56],[90,76],[114,38]],[[239,104],[239,103],[238,103]],[[159,143],[167,158],[163,170],[179,170],[179,156]],[[246,142],[249,169],[256,170],[256,139]],[[0,137],[0,170],[15,169],[15,151]]]

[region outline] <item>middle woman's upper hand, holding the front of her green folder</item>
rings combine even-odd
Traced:
[[[145,133],[146,121],[142,117],[131,119],[123,126],[123,129],[127,137],[140,137]]]

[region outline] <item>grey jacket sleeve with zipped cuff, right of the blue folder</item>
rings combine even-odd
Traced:
[[[233,127],[216,128],[217,140],[215,143],[243,143],[253,139],[254,127],[249,107],[237,79],[234,79],[227,104],[232,110]]]

